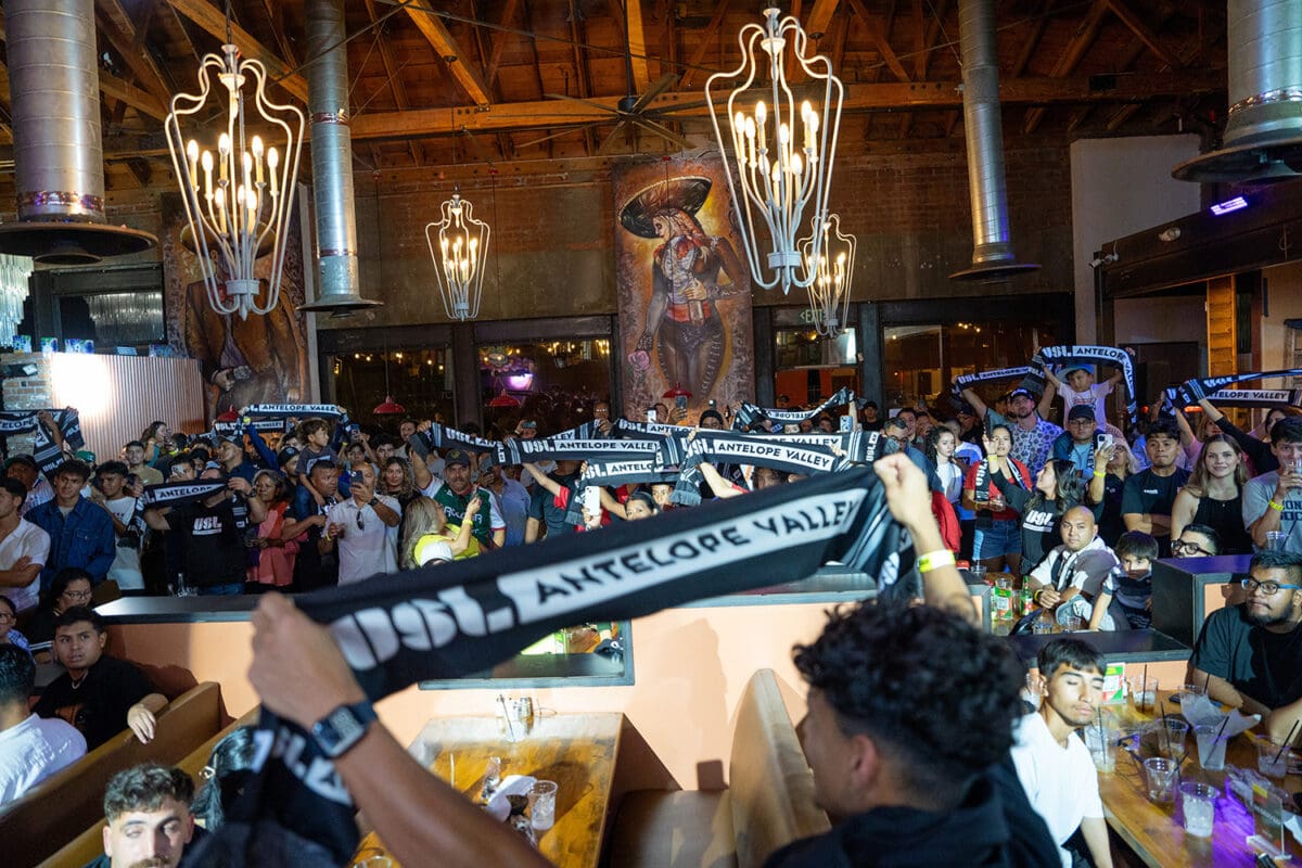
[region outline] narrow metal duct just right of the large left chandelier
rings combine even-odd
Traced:
[[[353,207],[353,135],[348,113],[348,49],[342,0],[309,0],[305,9],[307,112],[316,206],[316,301],[306,311],[346,316],[380,302],[362,298]]]

